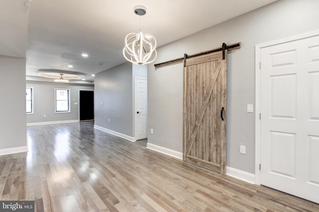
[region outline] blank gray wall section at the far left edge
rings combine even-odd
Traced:
[[[0,55],[0,149],[26,146],[25,59]]]

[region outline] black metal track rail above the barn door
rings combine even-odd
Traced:
[[[224,60],[225,59],[225,50],[230,51],[230,50],[239,49],[239,48],[240,48],[240,42],[239,43],[234,43],[234,44],[231,44],[231,45],[228,45],[228,46],[225,43],[223,43],[222,47],[220,47],[220,48],[211,49],[211,50],[208,50],[208,51],[204,51],[204,52],[200,52],[200,53],[196,53],[196,54],[192,54],[192,55],[184,54],[184,57],[176,58],[176,59],[173,59],[173,60],[168,60],[168,61],[165,61],[165,62],[162,62],[162,63],[157,63],[157,64],[154,64],[154,66],[155,66],[155,68],[159,68],[161,66],[165,66],[165,65],[172,64],[172,63],[184,61],[184,67],[185,67],[186,59],[188,59],[188,58],[198,57],[198,56],[201,56],[201,55],[210,54],[210,53],[219,52],[219,51],[223,51],[223,60]]]

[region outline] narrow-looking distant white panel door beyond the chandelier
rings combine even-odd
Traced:
[[[137,140],[147,138],[148,121],[148,81],[135,79],[135,137]]]

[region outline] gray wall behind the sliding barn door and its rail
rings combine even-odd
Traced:
[[[227,166],[255,173],[255,45],[319,29],[319,0],[279,0],[158,48],[154,63],[241,42],[228,53]],[[182,64],[148,65],[148,142],[182,152]],[[149,130],[150,131],[150,130]],[[239,146],[246,145],[246,154]]]

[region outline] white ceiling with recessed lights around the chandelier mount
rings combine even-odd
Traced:
[[[93,81],[91,74],[126,62],[125,36],[140,30],[136,5],[147,8],[142,31],[161,46],[273,1],[0,0],[0,54],[25,57],[26,52],[27,76],[58,69]]]

